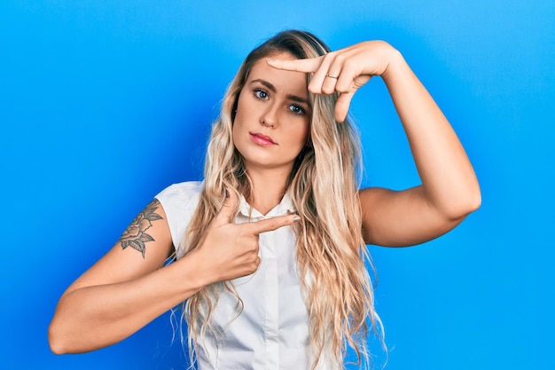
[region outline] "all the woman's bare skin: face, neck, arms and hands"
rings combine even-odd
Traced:
[[[340,122],[357,89],[381,76],[409,138],[422,185],[401,192],[369,188],[359,193],[363,237],[369,244],[407,246],[434,239],[480,206],[480,187],[457,135],[403,56],[389,44],[358,43],[316,59],[294,60],[286,53],[270,57],[251,71],[240,93],[233,129],[234,143],[253,180],[249,201],[255,209],[265,213],[278,204],[292,158],[306,143],[309,121],[292,114],[291,98],[308,98],[306,73],[314,73],[309,91],[340,92],[335,106]],[[253,81],[261,78],[274,91],[254,95],[253,87],[260,82]],[[253,140],[249,134],[253,130],[277,146]],[[201,287],[253,273],[260,264],[258,235],[293,224],[298,216],[231,224],[238,199],[228,193],[198,248],[163,268],[173,246],[164,210],[152,201],[106,256],[62,295],[49,328],[51,350],[75,353],[106,347]]]

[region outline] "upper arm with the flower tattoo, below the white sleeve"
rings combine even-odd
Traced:
[[[122,232],[113,247],[67,288],[82,288],[137,279],[164,265],[174,247],[160,201],[154,199]]]

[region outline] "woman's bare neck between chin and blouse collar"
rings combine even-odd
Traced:
[[[262,215],[277,206],[287,190],[290,171],[284,169],[247,169],[253,182],[252,196],[247,201]]]

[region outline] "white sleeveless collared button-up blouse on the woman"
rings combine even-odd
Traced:
[[[203,184],[171,185],[156,195],[168,219],[177,258],[184,255],[184,232],[199,203]],[[294,211],[287,194],[263,216],[241,197],[236,223],[262,220]],[[256,272],[233,279],[243,301],[223,291],[211,318],[220,335],[199,337],[199,370],[309,369],[313,353],[309,338],[309,312],[301,294],[295,264],[295,235],[290,226],[260,235],[261,264]],[[198,334],[199,335],[199,334]],[[318,370],[332,369],[333,361],[320,358]]]

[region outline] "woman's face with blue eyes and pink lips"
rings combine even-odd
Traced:
[[[295,59],[288,52],[272,59]],[[309,138],[307,75],[272,68],[258,60],[239,93],[233,144],[246,169],[282,169],[287,174]]]

